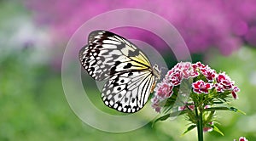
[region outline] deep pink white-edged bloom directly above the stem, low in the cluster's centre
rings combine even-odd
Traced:
[[[212,89],[212,84],[200,80],[194,82],[192,87],[195,93],[208,93],[208,90]]]

